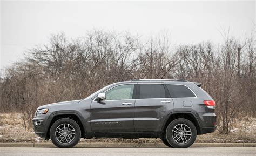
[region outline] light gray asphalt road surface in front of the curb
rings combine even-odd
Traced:
[[[256,155],[255,147],[190,147],[177,149],[169,147],[0,147],[0,155]]]

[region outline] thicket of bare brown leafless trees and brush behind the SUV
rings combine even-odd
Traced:
[[[202,82],[217,102],[218,131],[228,134],[240,112],[255,112],[255,40],[227,35],[211,42],[179,45],[168,33],[140,39],[129,32],[92,30],[69,39],[52,35],[49,44],[26,52],[26,59],[6,69],[1,111],[22,111],[24,125],[39,105],[83,99],[103,86],[137,78],[186,79]],[[254,114],[255,116],[255,114]]]

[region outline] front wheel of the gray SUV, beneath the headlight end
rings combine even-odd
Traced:
[[[66,129],[69,129],[70,131]],[[56,132],[57,130],[58,132]],[[81,138],[81,130],[76,121],[69,118],[59,119],[55,121],[55,123],[53,123],[51,126],[50,138],[55,146],[60,148],[70,148],[76,146],[76,144],[79,142]]]

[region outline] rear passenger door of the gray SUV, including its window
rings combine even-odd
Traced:
[[[134,106],[136,132],[160,132],[167,114],[174,111],[164,83],[138,83]]]

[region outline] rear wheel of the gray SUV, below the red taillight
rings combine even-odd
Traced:
[[[173,120],[166,128],[166,140],[174,148],[190,147],[197,138],[197,129],[187,119]]]

